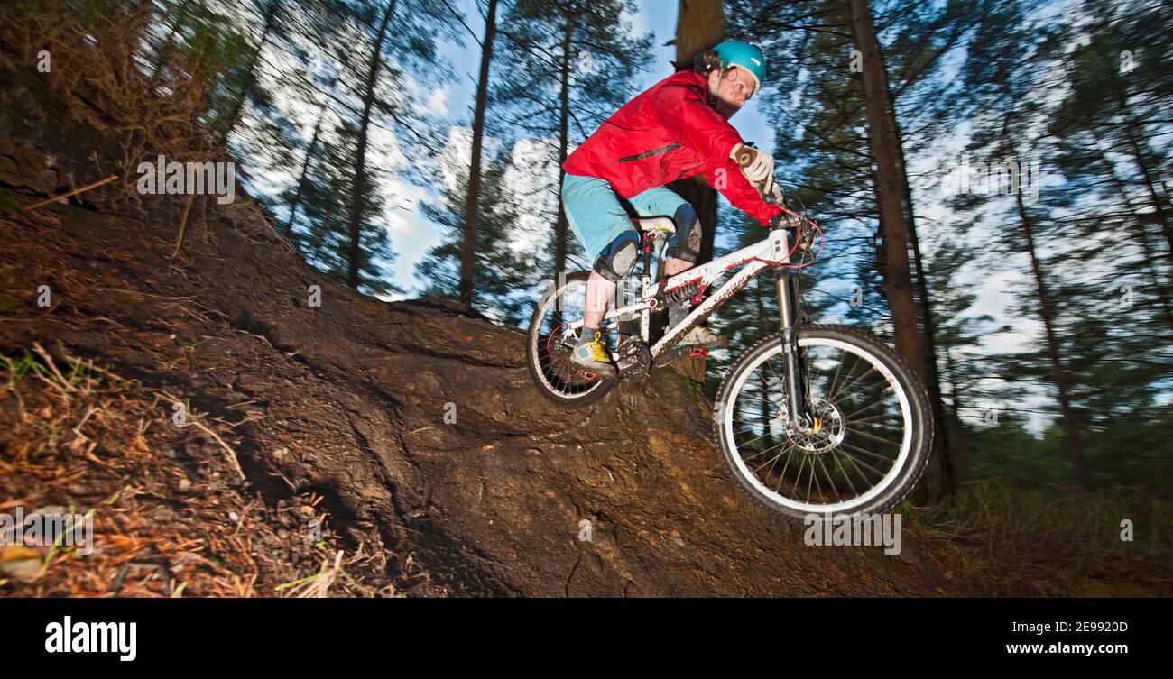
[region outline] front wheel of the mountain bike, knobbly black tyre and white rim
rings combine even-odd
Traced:
[[[896,352],[857,330],[805,326],[798,345],[812,421],[791,421],[781,338],[762,339],[717,393],[713,434],[726,470],[793,521],[890,509],[928,463],[924,387]]]

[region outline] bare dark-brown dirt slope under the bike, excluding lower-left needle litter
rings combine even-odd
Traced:
[[[927,577],[928,559],[805,546],[801,527],[745,501],[710,447],[707,402],[671,371],[589,409],[560,409],[533,388],[521,332],[328,284],[255,209],[239,213],[251,230],[210,223],[212,245],[199,246],[213,251],[189,245],[171,267],[174,229],[61,205],[0,218],[15,307],[5,315],[22,320],[2,324],[0,348],[60,341],[239,422],[242,493],[270,504],[325,495],[332,525],[411,545],[457,593],[880,595],[941,584]],[[48,311],[34,304],[42,284],[54,294]],[[310,285],[321,286],[320,307],[307,304]],[[590,541],[579,539],[584,520]]]

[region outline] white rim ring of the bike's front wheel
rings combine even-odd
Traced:
[[[737,467],[738,474],[740,474],[743,478],[747,480],[758,491],[768,497],[772,502],[775,502],[786,508],[805,514],[827,514],[827,512],[842,514],[846,510],[849,510],[850,508],[855,508],[861,504],[870,502],[873,498],[875,498],[881,493],[887,490],[900,476],[901,471],[904,469],[904,466],[908,463],[908,455],[909,451],[911,450],[911,444],[913,444],[913,408],[908,402],[908,394],[904,393],[904,388],[900,385],[900,381],[896,380],[896,375],[894,375],[883,365],[883,362],[881,362],[880,359],[876,358],[874,354],[872,354],[869,351],[853,344],[829,338],[806,338],[799,340],[800,347],[806,347],[812,345],[835,347],[845,352],[850,352],[867,360],[872,365],[872,367],[876,369],[876,372],[879,372],[881,375],[883,375],[886,380],[888,380],[888,383],[895,389],[896,396],[900,399],[901,414],[903,415],[902,419],[904,421],[904,436],[903,440],[901,441],[900,454],[896,456],[895,463],[893,463],[891,469],[889,469],[888,473],[884,474],[883,478],[881,478],[879,483],[876,483],[870,490],[863,493],[857,497],[853,497],[849,501],[836,502],[834,504],[812,504],[807,502],[799,502],[796,500],[786,497],[785,495],[774,493],[773,490],[767,488],[761,481],[758,480],[757,475],[754,475],[753,471],[750,470],[750,467],[741,459],[741,455],[739,454],[735,444],[733,443],[733,413],[737,410],[733,403],[737,403],[737,398],[741,393],[741,386],[745,383],[746,379],[758,368],[758,366],[767,361],[769,358],[778,355],[782,352],[781,344],[778,344],[771,349],[764,352],[753,364],[751,364],[746,369],[741,371],[741,374],[738,376],[737,381],[734,381],[733,386],[730,388],[730,398],[727,399],[730,407],[725,408],[725,413],[721,420],[721,428],[725,435],[725,444],[730,449],[731,457],[733,460],[733,464]]]

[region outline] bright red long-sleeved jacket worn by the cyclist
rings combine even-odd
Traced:
[[[728,157],[739,143],[741,135],[708,106],[705,76],[682,70],[623,104],[562,169],[606,179],[624,198],[704,172],[734,208],[765,224],[781,210],[762,202]]]

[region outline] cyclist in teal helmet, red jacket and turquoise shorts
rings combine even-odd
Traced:
[[[768,195],[773,158],[746,147],[727,122],[765,76],[766,60],[757,46],[726,40],[698,55],[692,70],[670,75],[623,104],[562,164],[567,219],[595,258],[583,332],[571,362],[599,378],[616,374],[599,326],[616,284],[635,267],[639,251],[639,233],[621,198],[639,217],[672,218],[676,233],[667,242],[667,276],[696,266],[701,228],[692,205],[664,184],[703,172],[711,186],[758,222],[767,224],[781,213],[751,184],[761,184]],[[733,158],[743,148],[750,154],[739,165]],[[669,306],[670,328],[687,315],[686,303]],[[725,338],[698,326],[679,344],[724,342]]]

